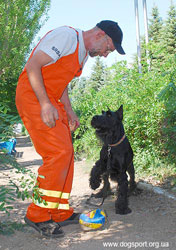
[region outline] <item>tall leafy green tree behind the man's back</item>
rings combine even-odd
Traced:
[[[49,6],[50,0],[0,2],[0,104],[10,113],[16,113],[17,80]]]

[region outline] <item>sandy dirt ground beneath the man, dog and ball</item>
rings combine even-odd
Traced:
[[[37,171],[40,156],[27,140],[18,140],[18,161],[23,167]],[[5,170],[7,173],[9,170]],[[93,207],[86,205],[92,193],[88,185],[90,167],[86,161],[75,163],[73,190],[70,203],[77,212],[88,212]],[[14,174],[14,173],[10,173]],[[0,171],[0,185],[6,183]],[[23,227],[12,235],[0,235],[0,250],[104,250],[104,249],[176,249],[176,200],[143,189],[142,193],[129,198],[132,213],[115,214],[115,197],[108,197],[103,209],[108,214],[108,224],[104,230],[84,232],[80,225],[63,227],[65,237],[46,239],[33,228]],[[16,200],[10,218],[1,214],[1,221],[11,220],[23,223],[30,201]]]

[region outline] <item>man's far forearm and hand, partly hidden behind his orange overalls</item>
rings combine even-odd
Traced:
[[[70,99],[68,96],[68,88],[66,87],[61,98],[60,98],[61,102],[64,104],[67,116],[68,116],[68,120],[69,120],[69,124],[71,127],[74,127],[73,131],[75,131],[79,125],[79,119],[77,117],[77,115],[75,114],[75,112],[72,109],[71,103],[70,103]]]

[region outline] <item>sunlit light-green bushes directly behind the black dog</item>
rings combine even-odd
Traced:
[[[109,78],[102,88],[96,92],[85,88],[73,102],[81,121],[80,128],[74,134],[75,151],[97,159],[100,143],[90,121],[93,115],[101,114],[102,110],[109,107],[116,111],[123,104],[123,123],[135,153],[136,168],[150,172],[155,165],[169,164],[168,146],[166,147],[169,141],[165,139],[165,134],[173,139],[169,142],[170,152],[173,156],[176,152],[175,64],[172,57],[162,64],[160,72],[152,70],[141,75],[135,68],[127,68],[125,62],[116,63],[110,69]],[[74,91],[72,94],[74,95]],[[172,158],[172,164],[175,163],[176,160]]]

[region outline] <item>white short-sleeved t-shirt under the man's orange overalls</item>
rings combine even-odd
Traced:
[[[79,63],[83,62],[83,66],[86,63],[88,56],[86,56],[86,48],[84,45],[82,30],[76,29],[78,31],[78,39],[79,39]],[[70,28],[68,26],[62,26],[54,29],[49,32],[39,43],[34,54],[42,50],[51,58],[53,58],[53,62],[56,62],[63,56],[67,56],[75,52],[77,47],[77,33],[75,29]]]

